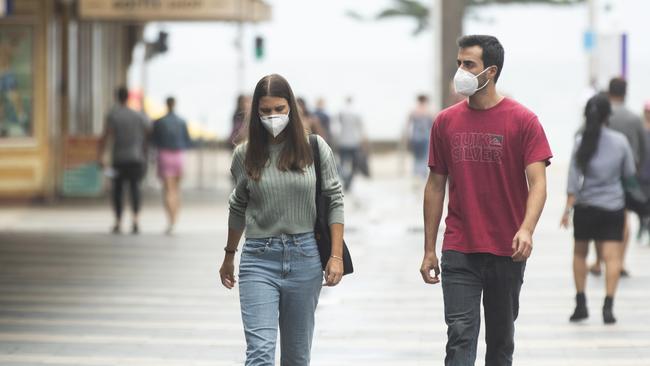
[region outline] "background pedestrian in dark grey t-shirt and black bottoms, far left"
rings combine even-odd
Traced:
[[[123,186],[128,184],[131,198],[131,232],[140,231],[140,181],[144,177],[149,120],[126,103],[129,92],[120,87],[116,93],[117,104],[108,112],[97,147],[97,159],[104,166],[103,155],[108,141],[112,141],[112,201],[115,224],[112,232],[120,233],[123,211]]]

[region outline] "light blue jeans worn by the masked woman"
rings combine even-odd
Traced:
[[[239,301],[246,366],[275,364],[278,325],[282,366],[308,366],[323,270],[314,233],[246,239]]]

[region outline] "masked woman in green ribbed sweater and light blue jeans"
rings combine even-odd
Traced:
[[[246,365],[274,365],[280,329],[283,366],[307,366],[323,269],[314,238],[316,175],[294,94],[279,75],[255,87],[248,141],[233,154],[228,242],[221,282],[233,288],[234,257],[245,233],[239,294]],[[332,150],[317,137],[322,192],[330,196],[332,256],[325,285],[343,276],[343,195]]]

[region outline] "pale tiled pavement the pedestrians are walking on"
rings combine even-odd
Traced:
[[[393,158],[377,164],[397,166]],[[314,366],[441,365],[441,290],[421,282],[420,193],[382,173],[346,198],[356,273],[324,289]],[[515,365],[650,365],[650,247],[631,245],[618,323],[570,324],[570,232],[558,229],[564,169],[552,165],[517,321]],[[191,192],[179,232],[160,234],[150,201],[139,236],[107,234],[98,204],[0,210],[0,365],[241,365],[237,292],[220,287],[225,192]],[[155,207],[155,208],[154,208]],[[479,360],[484,354],[480,345]],[[477,362],[481,364],[481,362]]]

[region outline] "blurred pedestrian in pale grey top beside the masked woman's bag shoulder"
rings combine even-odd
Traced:
[[[354,108],[352,97],[345,101],[345,107],[338,117],[339,134],[336,139],[339,151],[339,164],[343,177],[343,188],[349,191],[352,187],[354,176],[359,172],[362,149],[367,148],[367,139],[361,116]],[[364,146],[366,145],[366,146]],[[367,162],[366,162],[367,163]]]

